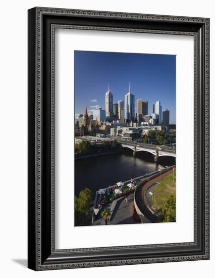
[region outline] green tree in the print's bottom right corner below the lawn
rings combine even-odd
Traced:
[[[161,222],[176,221],[176,195],[172,194],[166,198],[160,212]]]

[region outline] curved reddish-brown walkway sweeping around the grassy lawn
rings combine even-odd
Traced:
[[[168,175],[173,173],[173,168],[175,165],[171,167],[171,169],[165,169],[164,171],[160,172],[159,174],[155,174],[152,177],[147,178],[146,180],[142,181],[139,186],[136,188],[134,193],[135,205],[137,207],[137,213],[141,218],[146,217],[150,222],[156,223],[159,222],[159,218],[153,211],[145,204],[144,195],[146,191],[157,181],[167,177]],[[140,215],[141,214],[141,215]],[[142,217],[141,217],[142,216]]]

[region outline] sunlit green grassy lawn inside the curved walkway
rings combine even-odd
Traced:
[[[152,192],[152,208],[155,211],[158,211],[167,197],[169,197],[171,194],[176,194],[176,173],[174,174],[174,180],[173,174],[167,176],[161,180],[161,182],[152,190]]]

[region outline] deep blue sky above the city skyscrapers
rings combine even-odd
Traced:
[[[111,42],[110,42],[111,43]],[[170,110],[170,123],[176,117],[176,57],[174,55],[75,51],[75,113],[89,112],[101,106],[110,84],[114,103],[125,99],[131,82],[131,92],[137,99],[152,104],[160,101]]]

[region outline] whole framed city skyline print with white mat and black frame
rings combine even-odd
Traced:
[[[28,11],[28,267],[209,259],[209,19]]]

